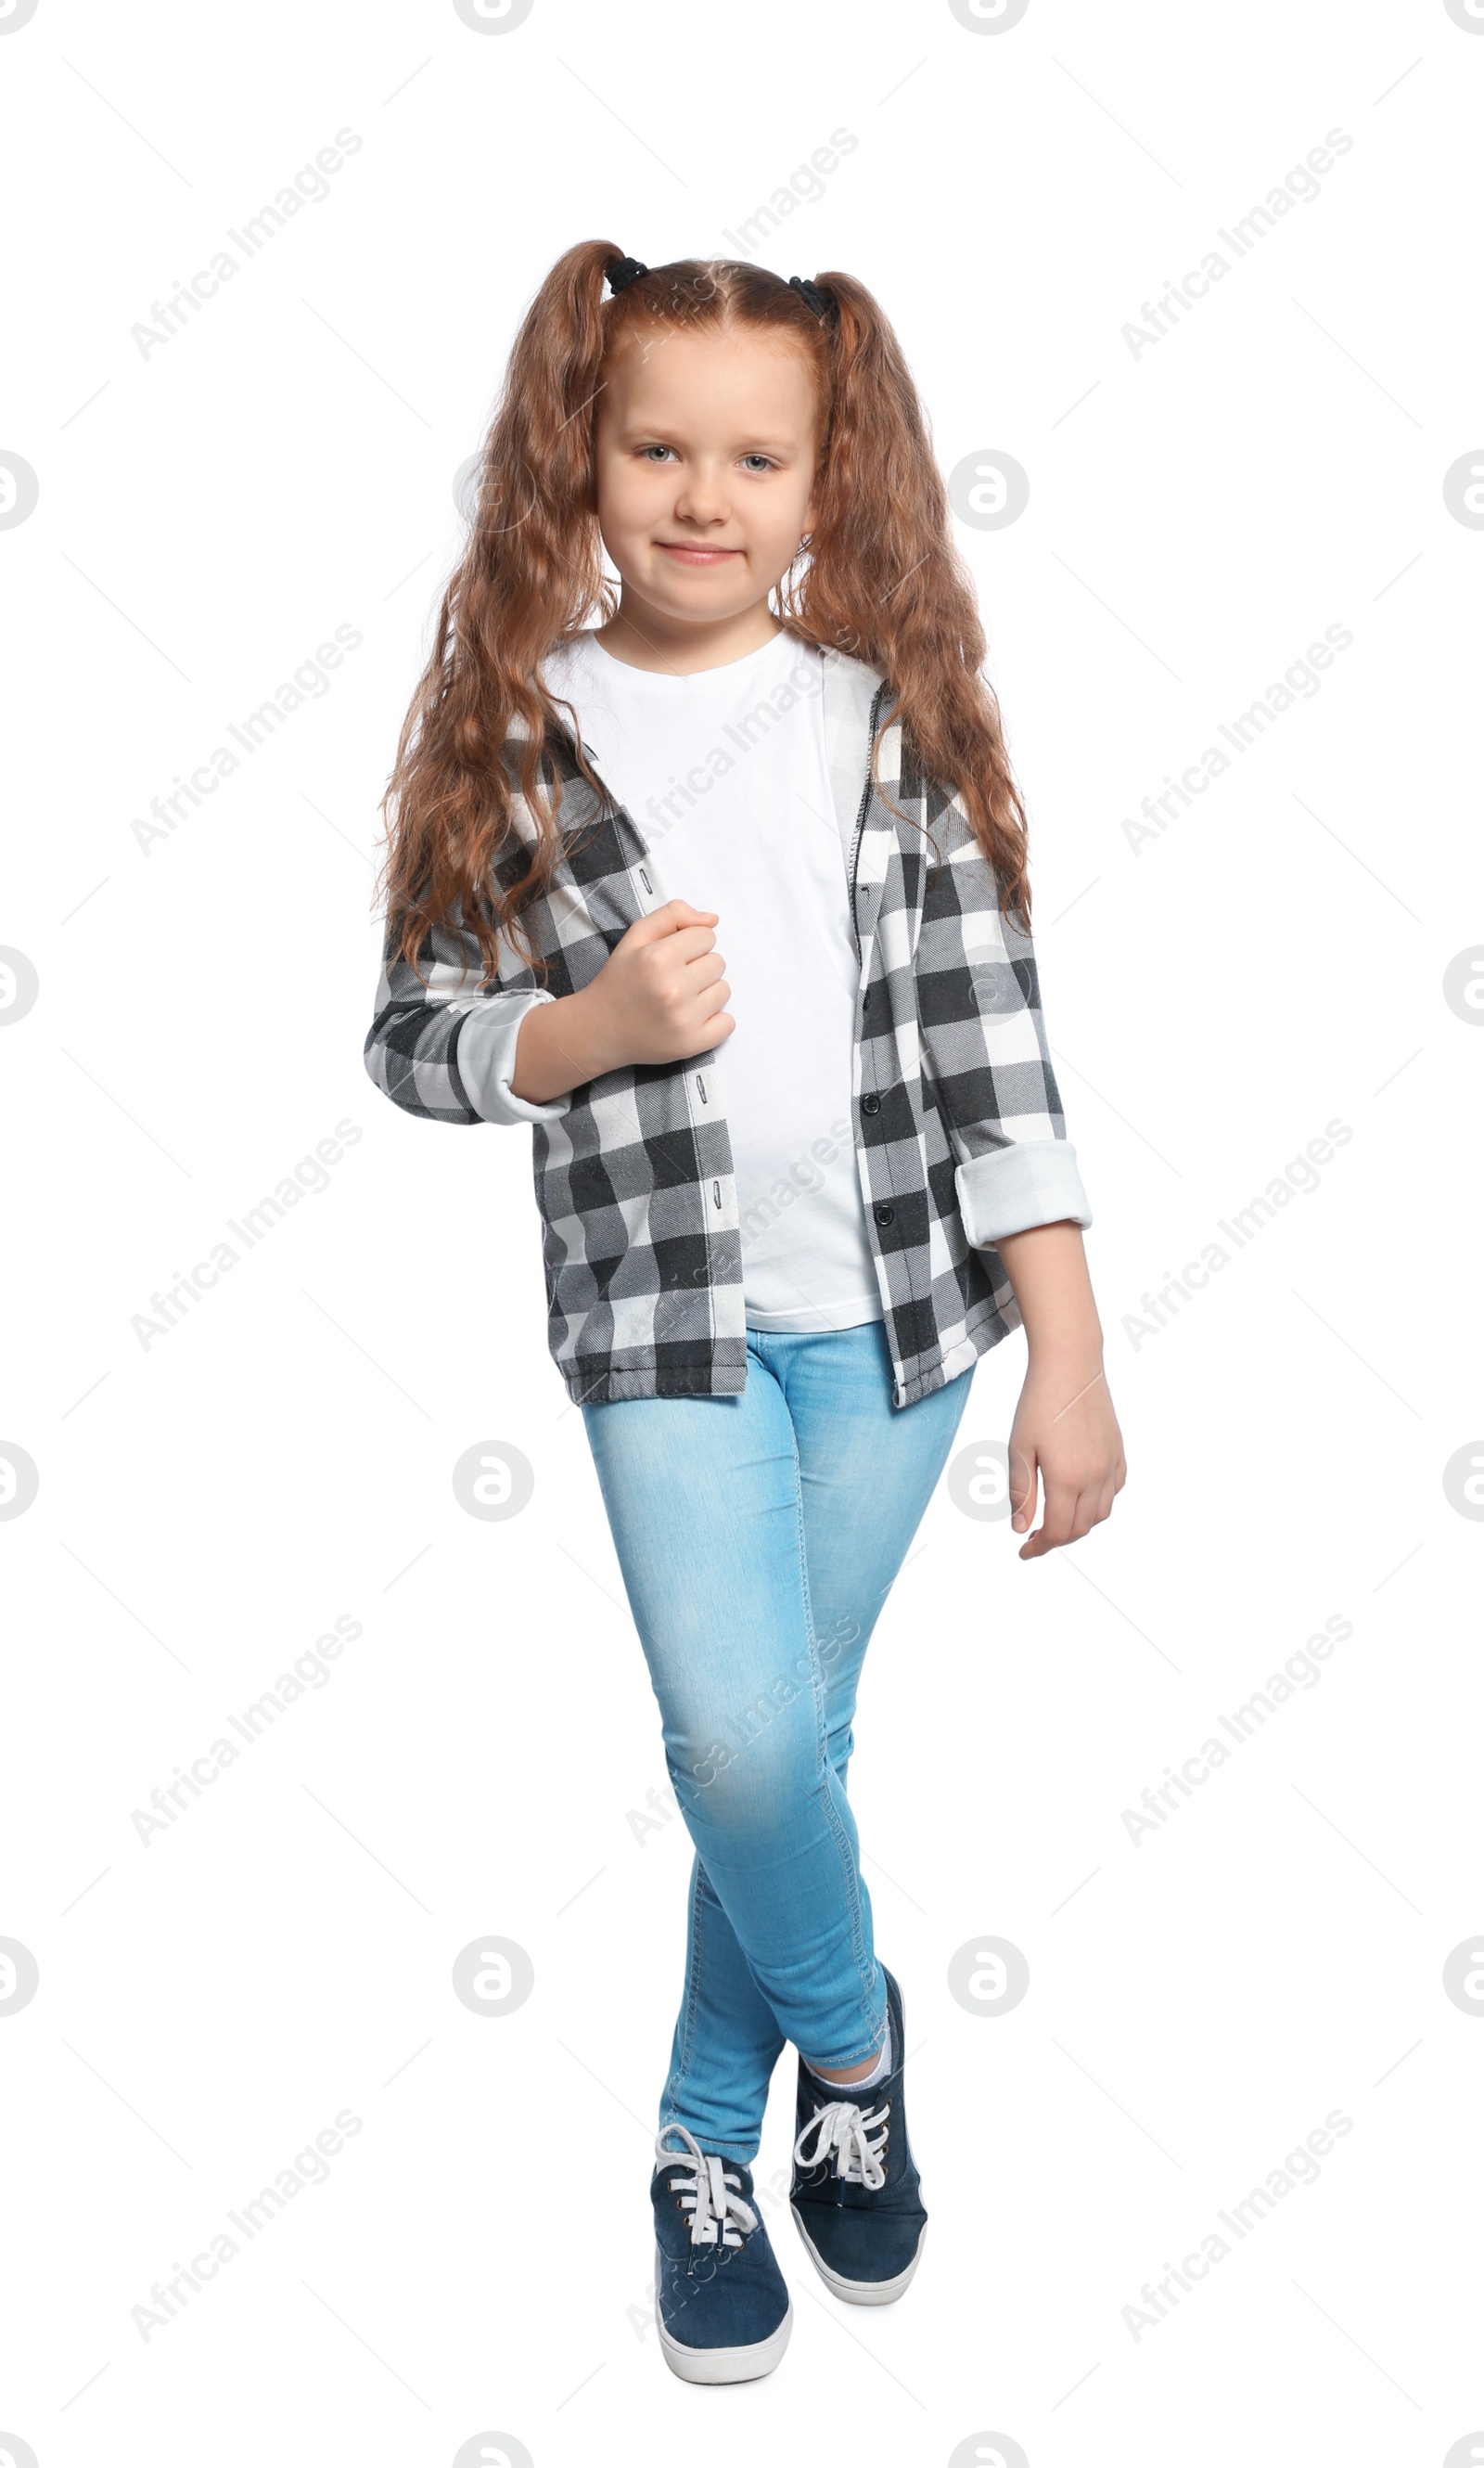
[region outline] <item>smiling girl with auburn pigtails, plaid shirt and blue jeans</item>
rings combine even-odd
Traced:
[[[651,2177],[690,2382],[789,2342],[749,2169],[786,2041],[821,2278],[885,2305],[922,2251],[846,1770],[979,1355],[1025,1328],[1023,1560],[1124,1481],[981,664],[858,281],[557,259],[397,745],[365,1054],[409,1113],[532,1125],[550,1350],[695,1844]]]

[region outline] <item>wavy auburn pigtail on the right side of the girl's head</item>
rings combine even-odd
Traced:
[[[984,676],[979,602],[954,545],[927,417],[865,284],[850,274],[816,281],[836,304],[831,417],[809,568],[786,615],[811,642],[885,671],[910,760],[956,792],[1001,906],[1028,926],[1025,807]]]

